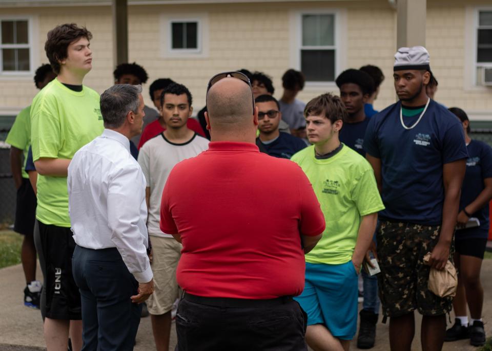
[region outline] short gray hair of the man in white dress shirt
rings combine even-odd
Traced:
[[[118,128],[125,123],[130,111],[137,113],[140,103],[138,95],[141,92],[141,85],[130,84],[115,84],[106,89],[99,100],[104,126]]]

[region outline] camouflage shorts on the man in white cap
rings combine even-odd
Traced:
[[[452,297],[441,298],[427,288],[430,267],[423,257],[439,240],[440,226],[381,221],[377,230],[379,297],[383,314],[398,317],[414,310],[438,316],[451,310]],[[453,246],[450,251],[453,250]],[[452,259],[453,252],[449,253]]]

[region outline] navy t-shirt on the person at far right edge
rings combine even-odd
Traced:
[[[466,173],[461,187],[460,211],[474,202],[485,188],[483,180],[492,178],[492,148],[482,141],[472,140],[466,147],[468,159],[466,160]],[[457,230],[457,239],[487,238],[489,227],[488,204],[475,213],[472,217],[478,218],[480,227]]]

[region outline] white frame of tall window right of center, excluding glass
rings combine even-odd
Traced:
[[[333,46],[302,46],[302,16],[303,15],[334,15],[334,45]],[[336,87],[336,77],[345,69],[346,65],[346,9],[338,8],[308,8],[299,9],[291,12],[290,37],[294,38],[291,45],[290,63],[296,70],[301,70],[301,50],[317,49],[318,50],[335,50],[335,74],[333,81],[310,81],[306,80],[305,88],[313,89],[334,89]]]

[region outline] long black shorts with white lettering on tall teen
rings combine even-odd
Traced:
[[[72,274],[75,242],[70,228],[39,222],[39,235],[45,274],[46,317],[51,319],[82,319],[80,292]]]

